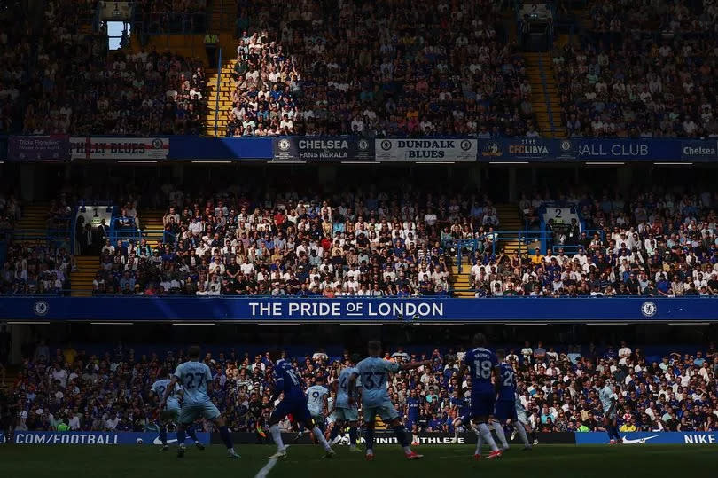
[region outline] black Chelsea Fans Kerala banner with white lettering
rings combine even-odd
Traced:
[[[277,137],[273,161],[373,161],[374,143],[363,137]]]

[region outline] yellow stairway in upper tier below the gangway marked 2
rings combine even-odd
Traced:
[[[531,82],[531,106],[544,137],[566,137],[566,126],[561,117],[558,85],[551,67],[550,53],[524,52],[528,81]]]

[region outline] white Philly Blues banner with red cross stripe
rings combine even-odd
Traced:
[[[166,160],[168,137],[71,137],[72,160]]]

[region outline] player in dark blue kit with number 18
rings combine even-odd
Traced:
[[[500,367],[496,354],[487,349],[486,337],[483,333],[473,336],[473,349],[466,352],[464,364],[459,370],[459,379],[464,377],[468,368],[472,378],[472,418],[479,428],[477,432],[476,451],[474,459],[481,458],[481,442],[488,443],[491,452],[487,459],[501,457],[501,451],[496,446],[491,431],[488,429],[488,417],[494,413],[496,394],[499,391]],[[491,378],[494,383],[491,383]]]

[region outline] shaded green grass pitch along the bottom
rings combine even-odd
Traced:
[[[274,446],[236,447],[241,459],[225,458],[222,446],[199,451],[189,447],[184,458],[176,448],[162,452],[154,446],[26,446],[0,445],[3,478],[254,478],[268,464]],[[639,478],[683,477],[689,473],[713,474],[718,447],[622,445],[541,445],[533,451],[519,447],[496,460],[472,459],[472,445],[415,447],[425,458],[407,461],[397,445],[375,449],[374,461],[363,453],[338,447],[337,456],[325,459],[317,446],[290,447],[288,457],[277,461],[267,478],[443,478],[489,476]],[[261,474],[260,474],[261,476]]]

